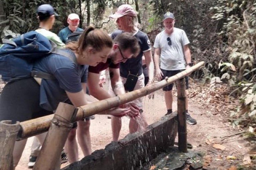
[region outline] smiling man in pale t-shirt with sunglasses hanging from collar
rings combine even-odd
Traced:
[[[156,76],[163,80],[171,77],[187,68],[191,63],[191,54],[188,44],[190,43],[185,31],[175,28],[175,17],[173,13],[167,12],[163,18],[164,30],[156,36],[154,43],[154,61],[156,66]],[[159,58],[161,64],[159,67]],[[185,60],[184,60],[185,58]],[[165,92],[165,104],[167,113],[172,113],[172,87],[170,84],[163,88]],[[186,98],[187,123],[195,125],[197,122],[188,113],[188,99]]]

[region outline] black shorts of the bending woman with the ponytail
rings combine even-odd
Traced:
[[[53,114],[39,106],[40,86],[34,78],[7,83],[0,96],[0,121],[28,121]]]

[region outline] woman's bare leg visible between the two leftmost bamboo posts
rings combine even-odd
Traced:
[[[14,149],[13,149],[13,167],[15,169],[15,167],[18,165],[22,152],[26,146],[27,143],[27,139],[23,139],[21,141],[16,141],[14,144]]]

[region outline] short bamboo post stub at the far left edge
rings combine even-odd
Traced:
[[[0,122],[0,170],[13,170],[12,153],[19,127],[19,122]]]

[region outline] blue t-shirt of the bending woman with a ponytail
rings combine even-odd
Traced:
[[[65,49],[70,55],[71,50]],[[70,93],[80,92],[81,83],[87,82],[88,65],[78,65],[70,58],[59,54],[49,54],[34,64],[34,71],[52,74],[56,80],[43,79],[40,86],[40,107],[54,111],[59,102],[65,102]]]

